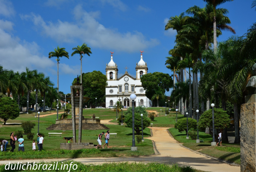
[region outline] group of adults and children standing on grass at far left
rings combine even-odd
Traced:
[[[43,137],[41,134],[38,134],[37,135],[37,146],[38,146],[38,151],[42,151],[43,150]],[[14,135],[14,133],[12,132],[11,135],[10,135],[10,145],[12,147],[11,151],[10,152],[13,152],[14,149],[16,148],[15,146],[15,142],[18,142],[19,144],[19,149],[18,151],[22,150],[22,152],[25,151],[24,149],[24,138],[23,138],[23,135],[20,136],[20,138],[18,139],[17,138],[17,135]],[[1,151],[3,152],[3,147],[4,147],[4,151],[6,151],[6,147],[7,147],[7,144],[9,143],[7,140],[2,140],[0,141],[1,143]],[[32,143],[32,150],[36,150],[36,143],[35,143],[35,140],[33,140],[33,143]]]

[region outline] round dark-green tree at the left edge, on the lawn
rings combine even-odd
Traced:
[[[4,123],[11,119],[19,117],[19,106],[15,100],[10,97],[3,97],[0,99],[0,118],[3,119]]]

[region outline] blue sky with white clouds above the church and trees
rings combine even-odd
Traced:
[[[238,36],[256,22],[251,3],[234,0],[219,6],[229,10]],[[37,69],[57,86],[56,59],[49,59],[48,53],[59,45],[71,55],[73,47],[86,43],[93,54],[83,58],[84,73],[96,70],[105,74],[112,51],[119,76],[126,66],[135,75],[142,50],[148,72],[171,74],[164,63],[175,45],[176,31],[164,31],[164,26],[171,16],[204,4],[203,0],[0,0],[0,65],[13,71]],[[217,40],[232,35],[223,31]],[[59,90],[69,93],[77,74],[79,55],[61,58]]]

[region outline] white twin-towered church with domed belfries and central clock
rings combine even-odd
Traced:
[[[135,100],[135,106],[151,107],[152,101],[146,97],[145,90],[142,87],[140,77],[148,73],[148,66],[142,58],[142,52],[140,61],[136,64],[136,78],[132,77],[127,72],[118,77],[117,64],[113,61],[113,52],[111,52],[111,60],[106,64],[106,77],[108,78],[108,86],[106,86],[106,107],[114,106],[117,101],[124,107],[132,107],[132,100],[130,95],[135,94],[137,96]]]

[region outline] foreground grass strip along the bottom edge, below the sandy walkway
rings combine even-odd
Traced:
[[[70,165],[71,162],[75,165]],[[37,168],[37,172],[43,172],[43,166],[46,167],[46,164],[54,164],[54,162],[51,163],[40,163],[42,166],[40,166],[40,169]],[[74,161],[65,161],[63,163],[58,163],[57,169],[62,169],[63,172],[68,172],[69,168],[71,166],[70,172],[196,172],[197,170],[193,169],[190,166],[182,166],[179,167],[177,164],[173,164],[172,166],[166,165],[166,164],[160,164],[160,163],[105,163],[102,165],[84,165],[79,162]],[[66,164],[66,166],[65,166]],[[15,164],[12,164],[13,167]],[[33,168],[33,164],[31,163]],[[68,165],[68,166],[67,166]],[[13,168],[12,167],[12,168]],[[65,167],[65,169],[64,169]],[[11,168],[11,167],[10,167]],[[52,168],[52,167],[51,167]],[[74,168],[74,169],[73,169]],[[5,165],[0,166],[0,172],[19,172],[20,170],[5,170]],[[34,172],[34,170],[22,170],[24,172]],[[52,172],[59,172],[59,170],[51,170]]]

